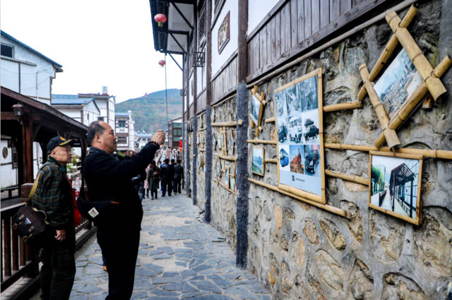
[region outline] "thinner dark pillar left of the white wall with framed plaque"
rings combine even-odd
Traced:
[[[212,32],[210,31],[212,19],[212,0],[206,0],[206,181],[204,195],[206,203],[204,204],[204,222],[210,223],[210,197],[212,196],[212,164],[213,147],[212,145]]]

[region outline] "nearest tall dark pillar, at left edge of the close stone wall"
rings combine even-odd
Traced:
[[[248,91],[246,90],[246,71],[248,54],[246,49],[246,30],[248,28],[248,0],[239,1],[239,32],[237,54],[237,245],[235,264],[246,268],[248,251]],[[241,122],[242,121],[242,122]]]

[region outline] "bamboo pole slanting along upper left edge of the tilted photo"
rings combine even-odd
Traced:
[[[407,28],[408,25],[410,25],[413,18],[415,18],[415,15],[417,13],[417,8],[415,8],[414,5],[410,6],[410,9],[403,17],[402,22],[400,23],[401,28]],[[379,60],[376,61],[376,64],[374,68],[372,68],[372,71],[369,75],[369,81],[374,81],[376,76],[380,73],[381,68],[383,68],[384,65],[386,65],[386,61],[388,61],[389,56],[393,53],[394,49],[396,49],[398,45],[398,40],[396,35],[392,35],[391,39],[389,39],[388,43],[383,49],[383,52],[381,52],[381,55],[379,57]],[[358,92],[358,99],[363,100],[364,97],[367,94],[366,88],[364,86],[361,87],[361,90]]]

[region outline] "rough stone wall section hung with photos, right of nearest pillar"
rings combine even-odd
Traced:
[[[440,7],[439,0],[420,4],[409,27],[433,66],[447,51],[451,56],[450,43],[439,47],[441,35],[451,35],[441,29]],[[275,88],[320,67],[324,106],[356,101],[359,65],[371,69],[391,33],[381,21],[259,85],[268,95],[263,119],[274,115]],[[398,130],[404,147],[452,150],[451,73],[442,78],[448,95],[431,110],[418,109]],[[325,143],[372,145],[381,132],[368,97],[361,109],[323,114],[323,124]],[[270,140],[274,128],[263,123],[258,138]],[[250,128],[249,138],[254,134]],[[275,145],[258,146],[276,158]],[[325,155],[326,169],[369,177],[368,152],[326,149]],[[267,163],[265,176],[250,177],[277,185],[276,168]],[[248,266],[274,299],[444,299],[452,281],[452,162],[424,159],[419,227],[369,208],[367,186],[326,180],[327,203],[350,212],[350,220],[251,184]]]

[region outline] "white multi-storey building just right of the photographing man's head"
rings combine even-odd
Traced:
[[[135,147],[135,121],[132,112],[117,112],[114,114],[114,134],[118,138],[117,149],[119,151],[136,150]]]

